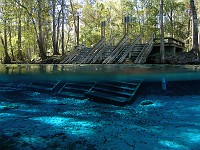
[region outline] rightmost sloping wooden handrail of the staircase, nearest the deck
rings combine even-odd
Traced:
[[[154,43],[154,35],[152,35],[148,43],[144,46],[144,48],[141,50],[141,52],[135,59],[134,61],[135,64],[142,64],[146,62],[146,59],[151,53],[151,50],[153,48],[153,43]]]

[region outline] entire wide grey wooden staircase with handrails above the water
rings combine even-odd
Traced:
[[[116,46],[111,46],[114,37],[106,44],[105,38],[96,43],[93,48],[77,47],[60,63],[67,64],[113,64],[124,63],[129,58],[132,63],[145,63],[153,48],[154,36],[145,44],[137,44],[142,35],[138,35],[131,45],[128,45],[128,35],[120,40]]]

